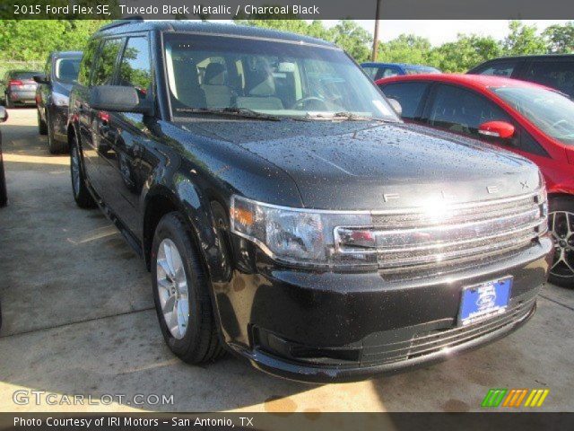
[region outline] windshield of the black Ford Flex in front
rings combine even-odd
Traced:
[[[338,49],[168,34],[165,51],[175,117],[234,109],[279,118],[398,121],[377,87]]]

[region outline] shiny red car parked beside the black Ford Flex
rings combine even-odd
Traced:
[[[550,280],[574,287],[574,101],[539,84],[500,76],[394,76],[377,84],[400,102],[405,121],[499,145],[539,166],[555,239]]]

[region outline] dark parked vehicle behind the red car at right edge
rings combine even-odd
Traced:
[[[468,74],[521,79],[574,97],[574,54],[495,58],[474,67]]]

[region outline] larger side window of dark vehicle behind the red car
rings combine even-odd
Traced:
[[[528,66],[523,79],[555,88],[572,96],[574,95],[574,61],[534,60]]]

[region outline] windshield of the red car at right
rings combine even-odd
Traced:
[[[574,144],[574,102],[559,92],[535,87],[491,89],[546,135]]]

